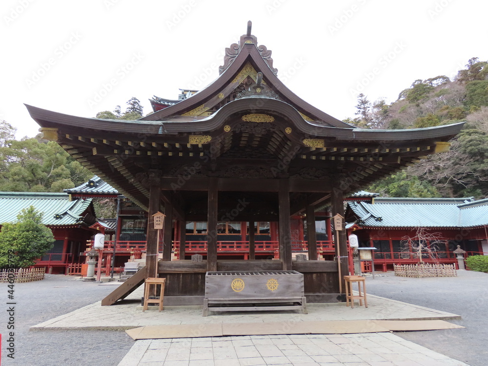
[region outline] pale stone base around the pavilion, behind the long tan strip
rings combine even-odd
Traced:
[[[295,311],[229,312],[203,317],[203,306],[164,306],[162,312],[142,312],[140,301],[142,286],[121,304],[101,306],[101,302],[87,305],[32,326],[31,330],[42,329],[102,329],[126,330],[144,325],[179,325],[211,323],[266,323],[303,322],[311,320],[430,320],[461,319],[459,315],[427,307],[402,303],[378,296],[367,295],[368,307],[351,308],[345,303],[307,304],[308,314]]]

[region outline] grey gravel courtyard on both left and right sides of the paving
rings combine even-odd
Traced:
[[[5,299],[1,311],[2,365],[116,366],[134,341],[123,331],[29,331],[29,327],[101,300],[113,285],[81,282],[68,276],[46,275],[43,281],[15,284],[15,359],[7,358],[7,284],[0,284]],[[488,365],[488,274],[458,271],[458,277],[403,278],[377,273],[366,280],[370,294],[452,312],[452,321],[465,329],[396,332],[471,366]]]

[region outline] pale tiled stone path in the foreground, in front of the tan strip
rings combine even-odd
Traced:
[[[391,333],[136,341],[119,366],[466,366]]]

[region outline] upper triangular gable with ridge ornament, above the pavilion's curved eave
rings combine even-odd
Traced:
[[[213,115],[235,99],[267,97],[289,104],[307,122],[354,129],[353,126],[308,104],[289,90],[276,76],[277,70],[272,67],[271,51],[256,45],[256,37],[250,34],[250,25],[249,22],[247,33],[241,37],[239,44],[227,48],[221,75],[215,81],[191,98],[142,117],[139,121],[183,122],[183,118],[186,122],[193,122]]]

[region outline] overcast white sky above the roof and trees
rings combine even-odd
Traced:
[[[416,79],[488,60],[482,0],[2,0],[0,119],[35,136],[23,103],[71,115],[177,99],[218,76],[252,20],[285,84],[338,118],[359,92],[393,102]]]

